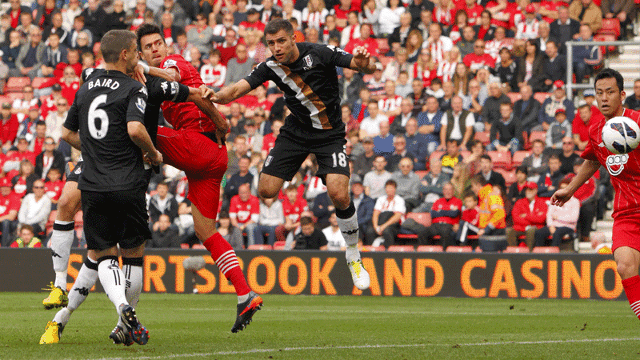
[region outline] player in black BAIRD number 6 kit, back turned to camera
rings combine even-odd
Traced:
[[[124,30],[102,38],[107,71],[78,90],[63,138],[83,153],[78,188],[87,248],[97,258],[98,277],[133,341],[144,345],[149,332],[127,300],[117,256],[119,245],[123,258],[142,258],[144,242],[151,237],[143,154],[151,164],[162,162],[144,126],[146,87],[126,75],[138,62],[135,40],[135,34]]]

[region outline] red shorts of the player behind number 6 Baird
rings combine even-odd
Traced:
[[[227,171],[227,148],[196,131],[158,127],[158,150],[165,164],[185,172],[193,205],[209,219],[218,215],[220,182]]]

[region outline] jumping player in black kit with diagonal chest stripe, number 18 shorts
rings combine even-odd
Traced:
[[[367,289],[369,274],[358,251],[358,218],[349,198],[350,171],[335,67],[371,74],[375,65],[363,47],[357,47],[352,55],[334,46],[296,44],[293,26],[287,20],[270,21],[264,32],[273,56],[243,80],[216,93],[212,100],[227,104],[268,80],[275,82],[285,93],[291,115],[264,162],[258,193],[263,198],[275,197],[307,155],[315,154],[318,175],[327,185],[347,243],[346,258],[353,282],[358,289]]]

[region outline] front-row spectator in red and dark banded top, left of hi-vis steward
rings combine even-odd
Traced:
[[[427,228],[426,238],[420,239],[422,245],[439,243],[446,250],[450,245],[456,245],[455,233],[459,229],[462,214],[462,200],[453,196],[453,185],[445,183],[442,187],[443,196],[436,200],[431,208],[431,226]],[[439,236],[440,239],[435,239]]]

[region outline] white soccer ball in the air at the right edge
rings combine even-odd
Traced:
[[[625,116],[616,116],[602,128],[602,142],[614,154],[626,154],[640,143],[640,126]]]

